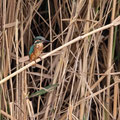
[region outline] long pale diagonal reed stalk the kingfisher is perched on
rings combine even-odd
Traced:
[[[82,39],[84,39],[84,38],[86,38],[86,37],[88,37],[88,36],[90,36],[90,35],[92,35],[92,34],[95,34],[95,33],[99,32],[99,31],[108,29],[108,28],[110,28],[110,27],[112,27],[112,26],[117,26],[117,25],[119,25],[119,24],[120,24],[120,16],[118,16],[112,23],[110,23],[110,24],[108,24],[108,25],[106,25],[106,26],[103,26],[103,27],[101,27],[101,28],[98,28],[98,29],[96,29],[96,30],[93,30],[93,31],[91,31],[91,32],[89,32],[89,33],[87,33],[87,34],[85,34],[85,35],[83,35],[83,36],[78,36],[77,38],[71,40],[70,42],[65,43],[64,45],[62,45],[62,46],[56,48],[55,50],[47,53],[46,55],[42,56],[41,59],[45,59],[45,58],[47,58],[48,56],[52,55],[53,53],[55,53],[55,52],[63,49],[64,47],[67,47],[67,46],[69,46],[69,45],[71,45],[71,44],[73,44],[73,43],[75,43],[75,42],[77,42],[77,41],[79,41],[79,40],[82,40]],[[41,60],[38,58],[38,59],[36,60],[36,62],[39,62],[39,61],[41,61]],[[9,76],[5,77],[4,79],[2,79],[2,80],[0,81],[0,84],[5,83],[7,80],[9,80],[10,78],[14,77],[14,76],[17,75],[18,73],[24,71],[25,69],[29,68],[30,66],[34,65],[36,62],[35,62],[35,61],[32,61],[31,63],[27,64],[27,65],[24,66],[23,68],[20,68],[20,69],[17,70],[16,72],[14,72],[14,73],[10,74]]]

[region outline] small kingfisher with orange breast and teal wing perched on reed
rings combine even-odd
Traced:
[[[49,42],[42,36],[37,36],[34,38],[34,44],[30,47],[29,58],[30,61],[34,61],[37,58],[40,58],[40,55],[43,51],[43,43]]]

